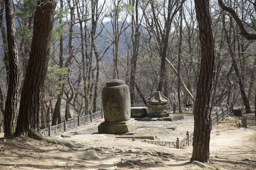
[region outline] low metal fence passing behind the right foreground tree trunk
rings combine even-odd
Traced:
[[[225,107],[225,108],[224,108]],[[220,110],[220,112],[218,112]],[[211,127],[218,125],[218,122],[228,117],[230,113],[233,113],[233,103],[231,105],[214,105],[212,111],[216,111],[215,116],[211,117]],[[184,149],[193,143],[194,132],[189,133],[187,131],[186,137],[183,139],[177,138],[176,142],[157,142],[157,141],[143,141],[150,144],[157,144],[160,146],[169,146],[177,149]]]

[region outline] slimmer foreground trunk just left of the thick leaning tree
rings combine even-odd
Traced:
[[[4,114],[4,136],[8,137],[15,133],[15,116],[17,115],[17,100],[20,82],[20,64],[18,59],[13,1],[5,0],[5,7],[10,73]]]

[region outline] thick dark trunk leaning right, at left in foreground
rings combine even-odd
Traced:
[[[44,87],[49,62],[50,40],[56,0],[38,0],[29,64],[20,98],[20,112],[15,134],[38,138],[40,93]],[[40,138],[40,137],[39,137]]]

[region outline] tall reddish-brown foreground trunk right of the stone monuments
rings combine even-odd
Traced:
[[[215,38],[209,0],[195,0],[201,42],[201,67],[194,111],[193,152],[190,161],[209,163],[212,91],[215,81]]]

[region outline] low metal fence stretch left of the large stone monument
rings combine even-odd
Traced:
[[[41,130],[41,134],[43,136],[52,136],[57,133],[62,133],[62,132],[66,132],[67,130],[74,129],[81,125],[86,125],[90,122],[94,122],[98,119],[102,119],[103,117],[104,117],[103,109],[101,111],[90,113],[85,116],[78,115],[77,118],[71,119],[69,121],[66,121],[66,119],[64,119],[64,122],[61,124],[54,125],[54,126],[49,125],[49,127]]]

